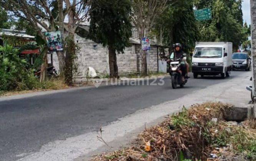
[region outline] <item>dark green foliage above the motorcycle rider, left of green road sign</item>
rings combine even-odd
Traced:
[[[198,28],[193,12],[193,1],[182,0],[168,4],[167,10],[160,16],[154,26],[154,32],[160,38],[159,29],[163,29],[163,44],[171,46],[181,43],[188,53],[198,39]]]

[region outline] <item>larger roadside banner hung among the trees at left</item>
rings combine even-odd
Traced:
[[[60,31],[46,32],[46,42],[50,51],[63,51],[63,43]]]

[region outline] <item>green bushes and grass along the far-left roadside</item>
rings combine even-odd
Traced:
[[[0,46],[0,93],[34,89],[63,89],[66,84],[61,79],[49,79],[44,82],[34,75],[26,59],[18,57],[19,49],[12,46]],[[43,55],[43,54],[40,54]]]

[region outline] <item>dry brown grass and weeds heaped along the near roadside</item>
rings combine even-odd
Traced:
[[[224,120],[228,104],[205,103],[168,117],[160,125],[145,129],[132,148],[101,154],[93,161],[123,160],[208,160],[216,147],[228,149],[227,154],[256,155],[256,131],[233,126]],[[215,123],[212,118],[217,118]],[[150,147],[147,145],[150,143]],[[254,147],[255,146],[255,147]],[[221,154],[218,153],[218,156]],[[232,155],[230,155],[232,156]]]

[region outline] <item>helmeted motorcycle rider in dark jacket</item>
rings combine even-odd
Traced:
[[[184,52],[182,51],[182,45],[180,43],[173,44],[174,52],[170,55],[170,59],[182,58]],[[184,59],[180,64],[180,69],[182,71],[182,81],[185,81],[185,78],[188,78],[189,65]]]

